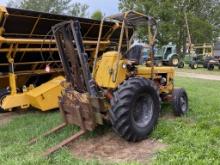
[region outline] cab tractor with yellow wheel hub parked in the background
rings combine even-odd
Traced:
[[[156,51],[155,60],[161,61],[164,65],[184,67],[184,63],[176,52],[176,45],[171,42]]]

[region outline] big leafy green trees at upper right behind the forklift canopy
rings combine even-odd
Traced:
[[[219,0],[119,0],[121,11],[136,10],[159,20],[159,45],[174,42],[177,51],[187,42],[184,13],[193,43],[212,42],[219,35]]]

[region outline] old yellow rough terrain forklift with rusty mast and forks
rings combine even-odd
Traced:
[[[100,52],[100,39],[105,35],[104,21],[115,22],[121,32],[118,43]],[[141,62],[143,47],[130,47],[132,37],[128,40],[129,29],[135,31],[138,26],[146,26],[149,32],[151,52],[144,64]],[[94,130],[105,120],[127,141],[143,140],[155,128],[163,101],[172,103],[177,116],[188,111],[186,91],[174,88],[174,68],[154,66],[156,21],[152,17],[129,11],[104,18],[94,57],[85,53],[77,21],[63,22],[52,29],[66,77],[59,102],[64,124],[44,135],[67,124],[78,125],[81,131],[49,149],[45,155]],[[92,66],[89,58],[92,58]]]

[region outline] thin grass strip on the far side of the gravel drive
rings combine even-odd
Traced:
[[[209,75],[218,75],[220,76],[220,70],[215,66],[215,69],[212,71],[207,70],[206,68],[198,68],[198,69],[191,69],[188,66],[184,68],[175,68],[177,72],[186,72],[186,73],[198,73],[198,74],[209,74]]]

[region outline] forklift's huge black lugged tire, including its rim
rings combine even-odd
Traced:
[[[113,130],[127,141],[140,141],[152,132],[159,118],[159,90],[151,80],[132,77],[113,93],[111,106]]]

